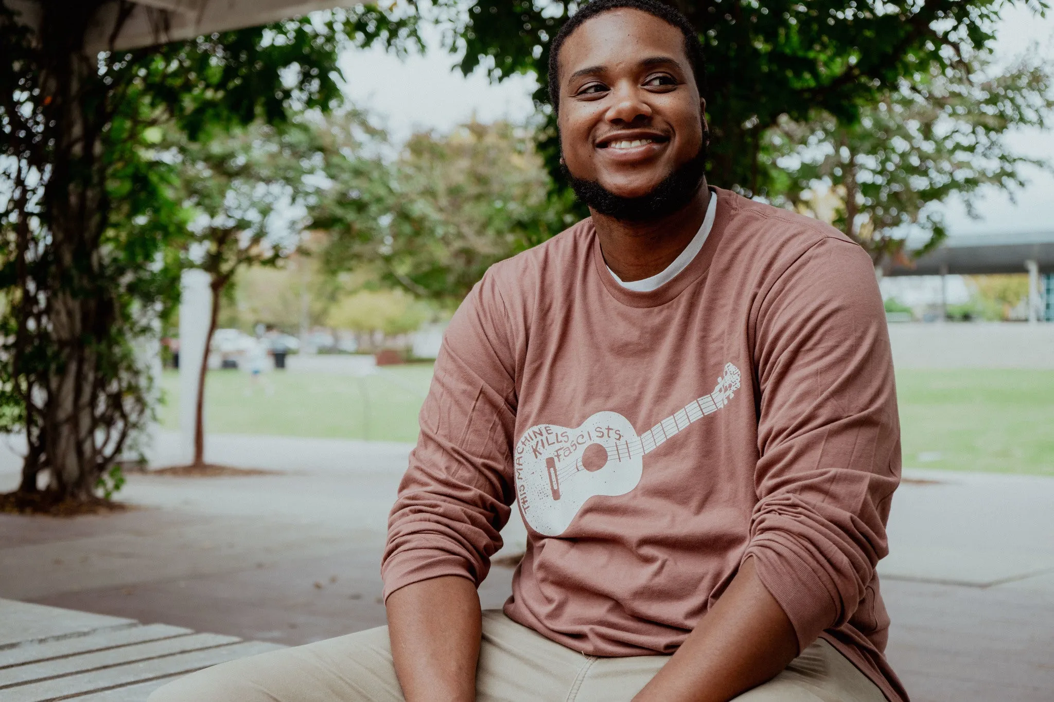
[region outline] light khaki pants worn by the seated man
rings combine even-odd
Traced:
[[[617,702],[644,687],[668,656],[594,658],[549,641],[500,610],[483,613],[476,699]],[[884,702],[826,641],[741,702]],[[388,627],[223,663],[156,690],[150,702],[402,702]]]

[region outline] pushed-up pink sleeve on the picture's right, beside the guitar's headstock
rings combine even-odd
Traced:
[[[826,238],[777,280],[755,335],[758,502],[744,559],[800,649],[845,623],[887,553],[900,480],[893,359],[870,257]]]

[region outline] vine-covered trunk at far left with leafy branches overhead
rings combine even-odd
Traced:
[[[24,430],[16,502],[90,500],[150,415],[132,352],[171,303],[183,221],[149,131],[194,139],[339,97],[344,46],[414,40],[376,5],[155,48],[85,55],[102,0],[41,2],[38,34],[0,3],[0,432]]]

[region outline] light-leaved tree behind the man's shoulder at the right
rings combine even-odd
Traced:
[[[928,235],[912,255],[943,240],[943,218],[932,204],[957,196],[973,214],[970,196],[978,188],[1012,190],[1024,184],[1021,165],[1049,167],[1014,153],[1004,136],[1046,126],[1054,107],[1050,67],[1021,59],[1001,71],[982,56],[969,65],[968,75],[934,68],[928,81],[901,81],[856,122],[829,114],[782,119],[768,136],[773,158],[763,161],[778,174],[777,202],[831,221],[876,266],[889,265],[907,260],[909,228]],[[825,192],[834,197],[820,204]]]

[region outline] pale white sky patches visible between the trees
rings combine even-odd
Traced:
[[[396,139],[405,139],[419,128],[448,131],[473,114],[483,122],[506,117],[522,121],[532,114],[530,95],[536,86],[533,77],[515,76],[496,85],[481,74],[465,78],[451,69],[455,57],[438,48],[436,35],[426,40],[430,44],[426,56],[399,60],[382,49],[369,49],[348,52],[341,58],[349,96],[372,109]],[[1054,12],[1047,18],[1037,18],[1024,7],[1007,12],[997,34],[997,57],[1010,60],[1033,42],[1054,60]],[[1010,141],[1021,153],[1054,162],[1054,131],[1014,134]],[[971,219],[959,203],[945,205],[950,234],[998,235],[1054,228],[1054,175],[1035,168],[1024,174],[1030,182],[1015,194],[1016,202],[994,190],[976,199],[979,220]]]

